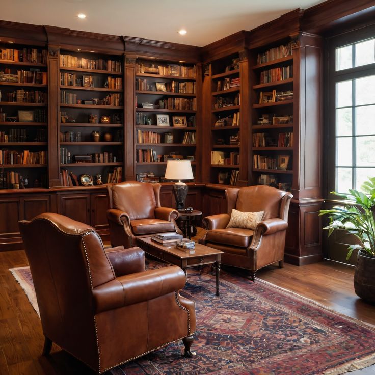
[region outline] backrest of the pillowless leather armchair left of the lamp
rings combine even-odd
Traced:
[[[160,207],[160,185],[126,181],[108,186],[110,208],[128,213],[130,220],[151,219]]]

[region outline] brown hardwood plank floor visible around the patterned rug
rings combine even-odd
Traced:
[[[25,265],[23,250],[0,252],[0,374],[92,375],[90,369],[55,344],[51,356],[41,356],[44,340],[39,317],[8,270]],[[356,297],[353,273],[341,264],[322,262],[303,267],[285,264],[283,269],[270,266],[256,276],[375,325],[375,306]]]

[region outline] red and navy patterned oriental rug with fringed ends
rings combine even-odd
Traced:
[[[37,311],[30,270],[11,272]],[[217,297],[214,276],[189,270],[181,294],[196,302],[195,357],[177,342],[112,375],[336,375],[375,363],[373,328],[262,280],[222,272]]]

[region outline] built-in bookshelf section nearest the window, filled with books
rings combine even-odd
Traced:
[[[256,51],[252,77],[253,183],[290,190],[294,146],[291,42]]]

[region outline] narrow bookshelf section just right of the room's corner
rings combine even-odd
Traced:
[[[240,69],[238,55],[210,64],[211,150],[209,182],[236,185],[239,177]]]

